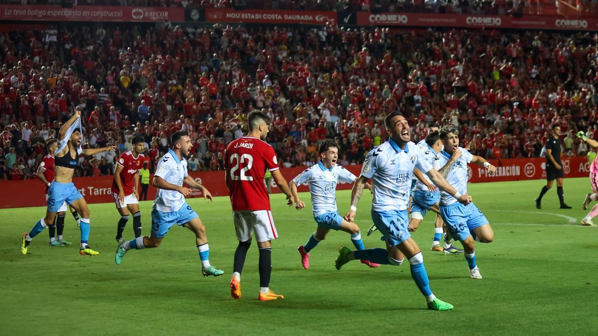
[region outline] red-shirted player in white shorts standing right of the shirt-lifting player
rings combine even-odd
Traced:
[[[133,232],[135,238],[141,236],[141,211],[139,211],[139,170],[145,162],[144,138],[134,136],[131,140],[133,149],[124,152],[118,158],[112,180],[112,197],[120,219],[116,233],[116,240],[120,244],[123,241],[124,227],[129,221],[129,212],[133,213]]]

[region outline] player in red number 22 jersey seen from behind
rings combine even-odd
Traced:
[[[248,136],[233,140],[225,152],[224,179],[230,193],[233,206],[233,221],[239,240],[234,252],[233,279],[230,282],[230,294],[235,299],[241,298],[241,271],[245,256],[251,246],[252,233],[260,249],[260,292],[258,299],[270,301],[282,299],[282,295],[270,291],[271,243],[276,239],[276,227],[270,212],[270,197],[264,175],[270,171],[280,191],[286,194],[288,205],[294,203],[285,178],[280,173],[276,153],[263,139],[266,139],[271,121],[259,111],[248,115]]]

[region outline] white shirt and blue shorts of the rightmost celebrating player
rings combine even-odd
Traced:
[[[468,180],[468,167],[467,164],[474,158],[467,149],[459,147],[461,156],[457,160],[453,167],[451,167],[449,174],[446,177],[447,182],[462,195],[467,194],[467,180]],[[441,151],[436,156],[434,163],[435,169],[444,167],[449,162],[451,155],[446,151]],[[471,230],[477,227],[481,227],[484,224],[488,224],[486,216],[475,206],[474,203],[463,205],[459,203],[456,198],[451,196],[446,191],[442,191],[440,194],[440,215],[443,221],[446,223],[453,235],[454,239],[463,241]]]

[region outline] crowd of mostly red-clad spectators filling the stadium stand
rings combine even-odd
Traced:
[[[0,33],[0,176],[28,178],[75,108],[86,146],[78,176],[108,175],[134,134],[149,167],[174,130],[190,132],[191,170],[220,170],[253,109],[273,120],[282,166],[308,166],[327,138],[359,164],[399,110],[412,137],[436,121],[487,158],[536,157],[560,124],[598,138],[598,34],[441,29],[87,26]],[[574,137],[567,155],[588,150]]]

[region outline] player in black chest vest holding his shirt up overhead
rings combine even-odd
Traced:
[[[81,255],[98,255],[99,252],[93,251],[87,244],[89,240],[89,207],[83,195],[77,190],[72,182],[75,168],[79,163],[79,155],[94,155],[97,153],[113,150],[115,146],[104,148],[81,148],[83,134],[81,133],[81,110],[76,109],[72,117],[60,127],[58,131],[60,146],[54,154],[54,181],[48,188],[48,207],[45,217],[35,223],[29,233],[23,233],[21,240],[21,253],[27,254],[29,244],[33,237],[37,236],[44,228],[54,225],[54,219],[63,203],[69,204],[81,215]]]

